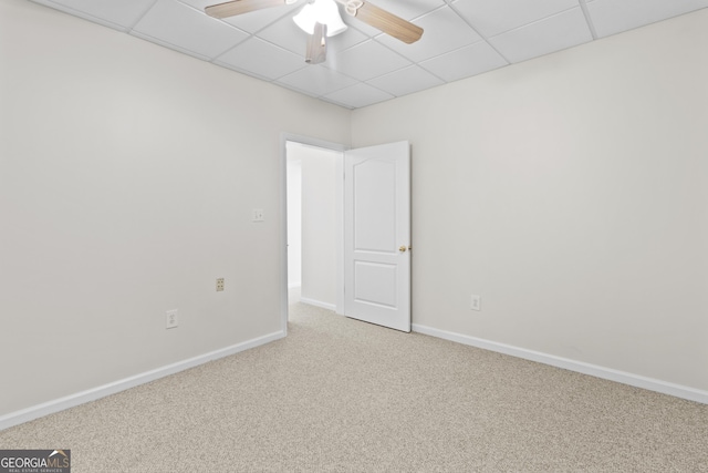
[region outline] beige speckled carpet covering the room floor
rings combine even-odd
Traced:
[[[291,306],[287,339],[0,432],[83,472],[708,472],[708,407]]]

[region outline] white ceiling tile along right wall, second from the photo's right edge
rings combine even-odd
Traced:
[[[592,41],[580,7],[525,27],[501,33],[489,42],[510,62],[560,51]]]

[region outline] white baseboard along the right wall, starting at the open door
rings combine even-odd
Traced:
[[[590,364],[582,361],[570,360],[568,358],[555,357],[553,354],[542,353],[540,351],[527,350],[524,348],[513,347],[510,345],[499,343],[496,341],[485,340],[481,338],[469,337],[466,335],[449,332],[445,330],[438,330],[438,329],[421,326],[418,323],[414,323],[412,326],[412,329],[413,331],[418,333],[442,338],[445,340],[468,345],[470,347],[477,347],[485,350],[510,354],[512,357],[523,358],[524,360],[537,361],[539,363],[550,364],[552,367],[563,368],[563,369],[576,371],[583,374],[590,374],[595,378],[616,381],[623,384],[633,385],[635,388],[643,388],[649,391],[656,391],[663,394],[669,394],[676,398],[687,399],[689,401],[696,401],[704,404],[708,404],[708,391],[701,391],[698,389],[675,384],[667,381],[646,378],[639,374],[633,374],[624,371],[614,370],[611,368],[598,367],[596,364]]]

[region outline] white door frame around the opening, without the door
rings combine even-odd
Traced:
[[[280,315],[283,336],[288,335],[288,142],[342,153],[336,175],[336,313],[344,313],[344,152],[348,146],[292,133],[280,135]]]

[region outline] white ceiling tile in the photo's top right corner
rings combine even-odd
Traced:
[[[708,0],[594,0],[587,10],[600,38],[708,7]]]

